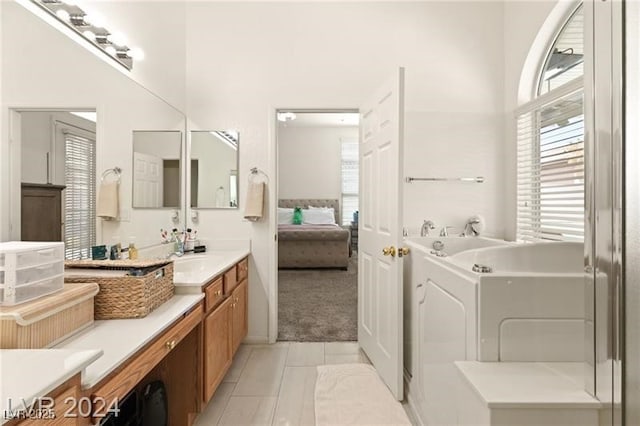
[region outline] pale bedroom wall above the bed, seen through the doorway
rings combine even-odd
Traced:
[[[340,200],[345,138],[358,128],[278,126],[278,197]]]

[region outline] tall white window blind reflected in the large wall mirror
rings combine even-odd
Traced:
[[[86,259],[96,242],[95,140],[67,130],[64,142],[65,257]]]

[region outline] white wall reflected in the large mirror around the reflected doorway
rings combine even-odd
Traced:
[[[96,109],[97,177],[108,168],[123,169],[121,213],[123,222],[102,222],[98,240],[127,241],[140,246],[159,241],[159,229],[172,227],[171,210],[131,209],[132,131],[184,129],[184,116],[50,25],[13,2],[2,5],[2,169],[0,199],[3,214],[13,216],[14,233],[3,218],[2,240],[18,238],[20,147],[9,150],[9,109]],[[28,31],[25,31],[28,28]],[[46,40],[46,43],[43,43]],[[70,67],[69,64],[73,64]],[[7,155],[4,155],[7,153]],[[12,157],[13,156],[13,157]],[[5,210],[5,206],[9,206]]]

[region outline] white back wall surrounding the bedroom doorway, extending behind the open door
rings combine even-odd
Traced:
[[[464,140],[483,155],[480,166],[467,161],[468,166],[462,167],[456,158],[450,159],[451,173],[484,173],[491,178],[486,191],[493,188],[501,194],[503,6],[501,2],[190,2],[189,119],[196,128],[240,131],[240,193],[245,194],[249,168],[259,167],[270,176],[270,208],[276,202],[275,108],[357,108],[402,65],[407,110],[426,117],[430,122],[424,123],[424,131],[434,132],[413,132],[407,152],[416,161],[408,164],[408,172],[427,175],[434,167],[444,167],[446,159],[433,155],[439,149],[434,141],[451,141],[448,136],[454,132],[455,141]],[[439,124],[436,120],[442,117],[447,120]],[[457,122],[456,117],[469,124]],[[463,148],[469,156],[476,155],[468,146]],[[417,226],[425,215],[448,222],[444,218],[448,212],[462,210],[439,193],[430,194],[432,189],[424,184],[415,188],[405,209],[416,212],[415,218],[407,218],[411,225]],[[458,191],[457,200],[475,202],[469,214],[495,212],[491,232],[504,233],[499,195],[483,199],[476,186]],[[199,235],[251,238],[249,335],[264,339],[268,296],[274,291],[275,228],[271,218],[243,221],[242,196],[240,202],[239,211],[201,211]]]

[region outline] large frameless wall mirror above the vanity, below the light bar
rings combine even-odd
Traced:
[[[81,194],[85,198],[79,199],[77,205],[87,207],[99,198],[103,189],[101,176],[115,168],[121,170],[117,218],[104,219],[89,213],[86,220],[77,220],[77,226],[73,227],[76,233],[70,238],[72,227],[69,218],[65,217],[69,210],[57,209],[56,224],[48,229],[58,232],[51,238],[80,241],[78,236],[86,237],[70,257],[87,257],[90,252],[87,249],[93,244],[126,244],[129,241],[135,241],[138,247],[157,244],[160,228],[184,224],[184,183],[180,183],[179,176],[180,170],[184,173],[185,169],[180,167],[185,115],[21,4],[2,2],[0,36],[2,40],[11,40],[11,43],[3,44],[0,58],[3,83],[0,99],[5,108],[0,117],[0,128],[3,129],[3,136],[0,136],[0,201],[3,206],[9,206],[0,212],[0,240],[31,238],[22,232],[21,226],[23,184],[28,184],[30,191],[59,189],[62,200],[56,205],[65,206],[71,201],[69,182],[78,183],[79,189],[85,191]],[[19,109],[9,109],[11,106],[19,106]],[[87,119],[79,117],[79,112],[94,114]],[[73,138],[60,139],[59,129],[61,134],[74,135]],[[168,131],[137,132],[141,129]],[[9,137],[15,143],[9,144]],[[89,146],[85,139],[95,142],[91,144],[95,148],[92,152],[95,164],[88,173],[92,180],[83,181],[77,174],[70,174],[75,171],[67,164],[71,158],[64,149],[80,142],[82,146]],[[140,141],[134,143],[133,139]],[[163,189],[162,197],[158,196],[161,200],[155,202],[158,207],[171,207],[171,210],[132,208],[138,206],[132,190],[133,152],[145,152],[145,144],[153,144],[152,153],[167,160],[163,162],[162,171],[158,170],[163,177]],[[165,148],[166,155],[160,153]],[[79,170],[88,171],[89,167],[83,165]],[[170,177],[172,173],[173,177]],[[165,184],[165,175],[171,183]],[[113,175],[108,176],[108,179],[113,178]],[[49,220],[53,214],[51,209],[45,208],[27,207],[24,210],[34,215],[42,214],[42,217],[25,218],[35,224],[44,223],[44,219]],[[29,225],[27,229],[31,231],[35,226]]]

